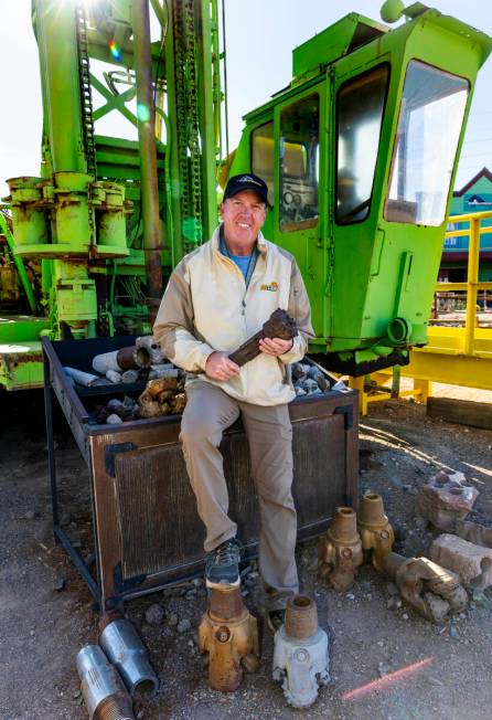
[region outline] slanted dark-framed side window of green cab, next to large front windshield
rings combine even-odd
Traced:
[[[341,225],[370,214],[388,76],[388,65],[379,65],[339,91],[335,219]]]

